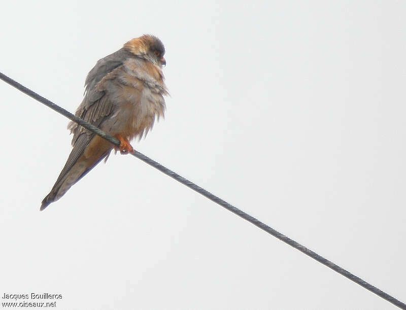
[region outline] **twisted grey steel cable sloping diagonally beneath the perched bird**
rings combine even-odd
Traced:
[[[13,79],[9,78],[8,76],[4,75],[0,72],[0,79],[5,81],[6,83],[14,86],[18,90],[22,91],[23,93],[27,94],[28,96],[40,101],[42,104],[48,106],[49,108],[55,110],[56,112],[66,116],[67,118],[73,120],[74,122],[78,123],[79,125],[85,127],[86,129],[93,131],[94,133],[98,134],[99,136],[103,137],[107,141],[111,142],[112,144],[119,146],[120,142],[115,137],[107,134],[106,132],[98,129],[97,127],[89,124],[85,120],[73,115],[72,113],[66,111],[65,109],[55,105],[52,101],[44,98],[43,96],[37,94],[36,92],[26,88],[25,86],[21,85],[20,83],[14,81]],[[218,203],[219,205],[223,206],[228,211],[238,215],[239,217],[243,218],[244,220],[254,224],[255,226],[261,228],[262,230],[266,231],[267,233],[277,237],[278,239],[282,240],[284,243],[287,243],[289,246],[299,250],[300,252],[310,256],[311,258],[317,260],[318,262],[326,265],[327,267],[333,269],[334,271],[344,275],[344,277],[350,279],[351,281],[359,284],[363,288],[377,294],[378,296],[382,297],[383,299],[393,303],[394,305],[398,306],[401,309],[406,309],[406,304],[399,301],[398,299],[392,297],[391,295],[385,293],[384,291],[380,290],[379,288],[365,282],[361,278],[357,277],[355,274],[347,271],[346,269],[334,264],[333,262],[329,261],[328,259],[320,256],[319,254],[313,252],[312,250],[302,246],[301,244],[297,243],[295,240],[285,236],[284,234],[280,233],[279,231],[269,227],[268,225],[262,223],[261,221],[257,220],[256,218],[252,217],[251,215],[245,213],[244,211],[236,208],[235,206],[229,204],[228,202],[224,201],[223,199],[217,197],[216,195],[212,194],[211,192],[201,188],[200,186],[194,184],[193,182],[185,179],[184,177],[178,175],[174,171],[166,168],[165,166],[161,165],[160,163],[156,162],[155,160],[149,158],[148,156],[134,150],[133,156],[141,159],[142,161],[146,162],[147,164],[153,166],[154,168],[158,169],[162,173],[171,178],[175,179],[176,181],[186,185],[187,187],[193,189],[194,191],[198,192],[199,194],[209,198],[210,200]]]

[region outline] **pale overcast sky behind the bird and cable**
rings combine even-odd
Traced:
[[[74,112],[98,59],[156,35],[171,97],[133,147],[406,302],[405,16],[403,1],[14,1],[0,71]],[[396,308],[132,156],[40,212],[71,150],[68,120],[0,93],[1,297]]]

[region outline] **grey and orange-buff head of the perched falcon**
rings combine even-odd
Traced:
[[[124,44],[124,48],[134,55],[144,58],[159,67],[166,65],[166,60],[163,58],[165,48],[161,40],[157,37],[144,35],[140,38],[134,38]]]

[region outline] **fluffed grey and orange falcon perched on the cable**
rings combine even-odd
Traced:
[[[40,210],[58,200],[114,148],[132,153],[129,140],[141,137],[163,117],[167,89],[161,71],[166,64],[162,42],[150,35],[135,38],[97,61],[86,78],[85,95],[75,115],[115,136],[117,148],[82,126],[70,122],[72,152]]]

